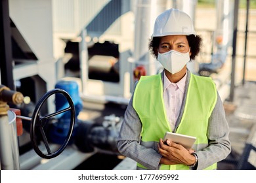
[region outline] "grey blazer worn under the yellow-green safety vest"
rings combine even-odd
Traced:
[[[161,73],[161,76],[163,81],[163,73]],[[177,119],[174,131],[176,131],[177,127],[181,123],[186,95],[188,92],[189,80],[190,71],[188,71],[188,75],[186,76],[186,85],[181,112],[179,118]],[[133,108],[133,97],[131,97],[119,132],[117,148],[121,154],[134,159],[148,169],[159,169],[161,154],[158,153],[158,142],[154,144],[154,148],[146,148],[140,145],[141,128],[142,124],[137,112]],[[228,123],[226,122],[223,103],[218,93],[217,103],[208,123],[207,137],[209,139],[209,146],[196,152],[198,155],[197,169],[205,169],[213,163],[223,160],[226,158],[226,156],[228,156],[228,154],[230,154],[231,144],[228,139],[228,135],[229,127]]]

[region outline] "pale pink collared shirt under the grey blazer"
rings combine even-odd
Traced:
[[[184,97],[186,75],[184,75],[177,83],[171,82],[165,73],[163,75],[163,101],[165,103],[167,120],[169,121],[172,130],[175,128],[175,124],[180,114],[182,99]]]

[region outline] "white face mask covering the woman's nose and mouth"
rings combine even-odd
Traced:
[[[189,52],[190,49],[186,53],[177,52],[175,50],[170,50],[163,54],[158,52],[158,61],[163,65],[163,68],[174,75],[175,73],[179,73],[184,65],[190,61]]]

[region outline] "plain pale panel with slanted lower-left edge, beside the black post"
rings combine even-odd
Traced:
[[[10,17],[35,56],[53,58],[51,0],[10,0]]]

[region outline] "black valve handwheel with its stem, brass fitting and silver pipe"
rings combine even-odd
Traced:
[[[69,106],[67,108],[63,108],[62,110],[59,110],[58,112],[54,112],[52,114],[48,114],[47,116],[41,116],[40,110],[45,101],[54,93],[60,93],[66,97]],[[50,92],[47,92],[41,100],[37,103],[35,110],[33,112],[32,118],[24,117],[24,116],[18,116],[14,115],[14,112],[9,112],[9,105],[7,105],[7,102],[11,102],[14,104],[20,104],[22,103],[23,95],[19,92],[13,92],[9,90],[9,88],[5,86],[1,86],[1,169],[19,169],[19,158],[16,156],[18,155],[18,143],[16,139],[16,131],[13,129],[16,129],[16,118],[31,120],[31,127],[30,127],[30,137],[33,145],[33,149],[35,152],[41,156],[42,158],[51,159],[56,156],[58,156],[64,148],[66,148],[68,142],[70,141],[70,137],[72,136],[73,130],[74,130],[74,117],[75,117],[75,109],[74,104],[72,102],[72,99],[70,95],[65,92],[64,90],[55,89]],[[64,140],[63,144],[56,150],[56,152],[52,152],[49,141],[47,140],[47,136],[45,133],[45,125],[56,115],[62,114],[63,112],[70,111],[70,128],[68,130],[68,133],[66,135],[66,139]],[[9,124],[9,118],[11,117],[11,124]],[[9,125],[12,125],[12,128],[9,127]],[[12,130],[10,130],[12,129]],[[19,129],[20,130],[20,129]],[[43,140],[43,143],[45,144],[45,148],[47,150],[47,153],[43,152],[39,146],[38,146],[38,139],[37,139],[37,133],[40,133],[41,138]],[[10,142],[7,142],[7,139],[10,138]],[[16,158],[13,158],[15,155]]]

